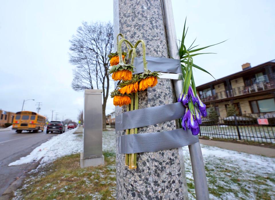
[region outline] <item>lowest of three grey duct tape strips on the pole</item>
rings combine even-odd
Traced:
[[[118,138],[118,153],[155,152],[199,142],[199,137],[182,128],[155,133],[123,135]]]

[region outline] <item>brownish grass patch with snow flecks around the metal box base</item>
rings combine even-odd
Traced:
[[[105,165],[80,168],[80,154],[62,157],[30,174],[21,199],[115,199],[115,154],[104,152]]]

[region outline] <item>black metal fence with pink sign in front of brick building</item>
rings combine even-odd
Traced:
[[[268,125],[258,124],[257,119],[266,119]],[[275,118],[272,115],[230,116],[219,120],[203,118],[200,136],[237,139],[254,142],[275,143]]]

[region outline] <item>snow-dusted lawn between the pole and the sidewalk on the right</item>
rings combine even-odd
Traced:
[[[184,149],[187,183],[193,183],[188,147]],[[201,144],[210,199],[275,199],[275,158]],[[273,197],[273,198],[272,198]],[[190,189],[189,199],[195,199]]]

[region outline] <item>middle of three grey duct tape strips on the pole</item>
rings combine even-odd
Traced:
[[[181,118],[185,107],[181,102],[123,112],[115,117],[115,130],[139,128]]]

